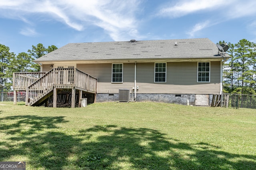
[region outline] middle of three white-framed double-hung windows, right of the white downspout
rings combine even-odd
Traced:
[[[155,82],[166,82],[166,63],[155,63]]]

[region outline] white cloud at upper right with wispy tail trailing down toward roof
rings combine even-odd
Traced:
[[[255,0],[181,0],[175,4],[164,4],[158,11],[158,16],[180,18],[186,15],[202,14],[200,21],[192,29],[187,31],[190,37],[196,33],[216,24],[224,23],[236,18],[255,17],[256,1]],[[205,16],[204,16],[205,15]],[[197,21],[198,16],[194,18]]]

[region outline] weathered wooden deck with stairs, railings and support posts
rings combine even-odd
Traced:
[[[14,94],[17,90],[26,91],[26,105],[37,106],[53,96],[53,107],[56,107],[58,92],[72,90],[71,106],[75,107],[75,92],[97,93],[97,78],[76,68],[52,68],[49,72],[26,72],[13,74]],[[14,96],[14,105],[16,104]],[[81,97],[80,97],[81,98]]]

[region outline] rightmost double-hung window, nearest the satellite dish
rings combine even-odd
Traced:
[[[198,82],[210,82],[210,62],[198,62]]]

